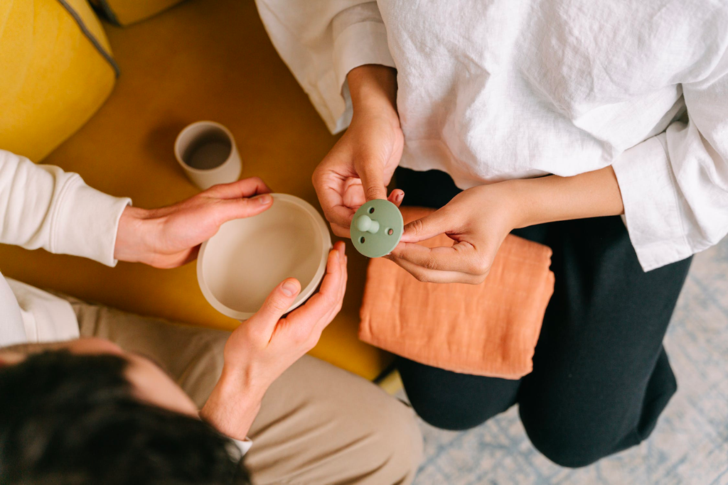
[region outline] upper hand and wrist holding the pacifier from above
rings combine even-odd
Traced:
[[[356,209],[387,199],[387,185],[400,163],[404,137],[395,108],[396,77],[391,68],[363,65],[347,76],[354,115],[347,132],[313,175],[321,207],[333,233],[349,237]],[[392,191],[399,205],[404,193]]]

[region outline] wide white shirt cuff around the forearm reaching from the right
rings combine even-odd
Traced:
[[[612,164],[630,241],[645,271],[693,254],[685,239],[680,194],[664,143],[664,134],[648,138]]]

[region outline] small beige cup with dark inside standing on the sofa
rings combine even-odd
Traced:
[[[187,125],[175,140],[175,157],[189,180],[203,191],[234,182],[242,172],[232,133],[215,121]]]

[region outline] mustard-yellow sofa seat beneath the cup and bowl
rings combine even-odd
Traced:
[[[196,189],[173,156],[175,136],[191,121],[229,127],[243,177],[318,206],[311,174],[335,143],[270,44],[252,1],[191,0],[128,28],[107,25],[122,75],[107,103],[44,163],[79,172],[90,185],[159,207]],[[389,362],[357,340],[366,260],[347,246],[344,308],[315,356],[373,378]],[[0,247],[0,270],[124,310],[232,329],[207,304],[194,264],[175,270],[119,263],[106,268],[75,257]]]

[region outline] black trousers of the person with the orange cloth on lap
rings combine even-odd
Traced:
[[[405,205],[438,208],[459,192],[435,170],[400,168],[396,180]],[[412,406],[431,425],[463,430],[518,404],[534,446],[567,467],[638,444],[677,389],[662,338],[690,260],[644,273],[620,217],[513,233],[553,249],[555,289],[533,372],[504,380],[400,358]]]

